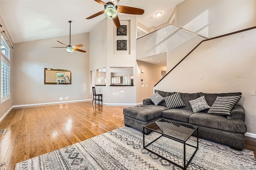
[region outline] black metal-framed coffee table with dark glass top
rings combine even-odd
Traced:
[[[161,134],[161,136],[159,136],[158,138],[156,138],[155,140],[153,140],[152,142],[150,142],[146,146],[145,146],[145,134],[144,134],[145,128],[153,130],[154,132],[157,132],[157,133]],[[186,144],[186,141],[188,140],[188,138],[190,138],[190,136],[195,131],[196,131],[196,136],[197,136],[197,146]],[[146,148],[150,144],[152,144],[153,142],[155,142],[156,140],[161,138],[162,136],[170,138],[172,140],[176,140],[176,141],[184,144],[184,166],[180,166],[180,165],[176,164],[175,162],[172,162],[171,160],[168,160],[167,158],[164,158],[163,156],[157,154],[156,152]],[[190,160],[188,160],[187,164],[186,164],[186,145],[196,148],[196,150],[194,151]],[[190,125],[186,125],[186,124],[183,124],[183,123],[175,122],[175,121],[170,121],[168,119],[159,119],[158,121],[155,121],[155,122],[150,123],[150,124],[143,127],[143,148],[148,150],[149,152],[152,152],[153,154],[156,154],[157,156],[171,162],[172,164],[186,170],[186,168],[190,164],[192,158],[195,156],[196,151],[198,150],[198,128],[190,126]]]

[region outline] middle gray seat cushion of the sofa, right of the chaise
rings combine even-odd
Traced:
[[[182,121],[188,123],[189,117],[192,114],[192,111],[186,109],[169,109],[162,112],[162,117],[166,119],[172,119],[175,121]]]

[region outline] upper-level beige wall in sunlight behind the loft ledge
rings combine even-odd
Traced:
[[[208,38],[256,26],[255,0],[185,0],[176,25]]]

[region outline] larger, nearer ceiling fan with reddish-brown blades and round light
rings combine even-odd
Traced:
[[[93,14],[92,16],[87,17],[86,19],[91,19],[96,16],[99,16],[101,14],[105,14],[107,18],[110,18],[113,20],[114,24],[116,25],[116,28],[120,27],[120,21],[117,16],[117,12],[124,13],[124,14],[135,14],[135,15],[142,15],[144,14],[144,10],[140,8],[134,8],[130,6],[120,6],[118,4],[119,0],[110,0],[110,2],[102,2],[101,0],[94,0],[98,2],[99,4],[104,5],[104,10]]]

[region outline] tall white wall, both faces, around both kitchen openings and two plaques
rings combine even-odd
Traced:
[[[118,15],[121,25],[127,25],[127,36],[116,36],[113,21],[105,18],[90,32],[90,70],[106,68],[106,86],[96,86],[96,92],[103,94],[106,104],[135,104],[135,86],[110,86],[110,67],[134,67],[136,71],[136,32],[135,15]],[[116,40],[127,40],[128,50],[117,51]],[[136,76],[134,76],[136,79]],[[94,80],[92,80],[94,81]],[[134,80],[136,81],[136,80]],[[134,82],[135,83],[135,82]]]

